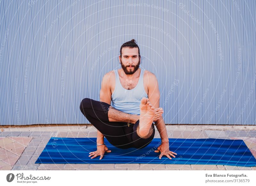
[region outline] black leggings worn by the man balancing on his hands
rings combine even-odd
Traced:
[[[92,125],[97,128],[112,145],[121,148],[137,148],[146,147],[154,138],[155,127],[152,123],[152,135],[148,138],[138,136],[136,129],[140,120],[135,124],[126,122],[110,122],[108,120],[108,103],[95,101],[90,98],[84,98],[80,104],[80,110]]]

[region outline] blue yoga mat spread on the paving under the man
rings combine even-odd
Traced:
[[[89,152],[96,151],[97,138],[58,138],[52,137],[40,154],[36,163],[54,164],[201,164],[201,165],[231,165],[256,166],[256,159],[243,140],[228,139],[169,139],[170,151],[177,153],[176,158],[168,159],[154,152],[160,138],[154,138],[143,149],[119,149],[104,141],[111,150],[100,156],[90,159]]]

